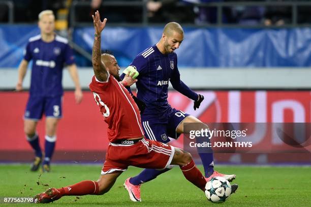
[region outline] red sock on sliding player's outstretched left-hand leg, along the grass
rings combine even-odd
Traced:
[[[64,195],[97,195],[99,191],[96,181],[81,181],[74,185],[58,188],[61,196]]]

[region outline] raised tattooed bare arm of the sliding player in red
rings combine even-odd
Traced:
[[[107,19],[105,18],[104,21],[101,21],[99,11],[96,11],[95,15],[92,15],[92,18],[95,29],[95,37],[92,50],[92,65],[94,69],[94,74],[99,81],[107,81],[108,72],[101,61],[101,33],[106,26]]]

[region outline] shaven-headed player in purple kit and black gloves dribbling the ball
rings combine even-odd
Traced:
[[[136,82],[137,98],[146,104],[141,114],[145,134],[150,140],[163,143],[170,141],[169,137],[177,139],[184,131],[183,124],[198,123],[201,128],[208,127],[196,117],[172,108],[167,101],[169,81],[173,88],[184,96],[194,100],[194,109],[199,108],[204,97],[192,91],[180,80],[177,68],[177,55],[174,52],[183,41],[183,29],[176,22],[166,24],[161,40],[138,54],[130,64],[139,72]],[[124,74],[121,75],[121,78]],[[130,88],[128,88],[130,90]],[[205,178],[210,180],[213,176],[223,176],[228,181],[235,179],[235,175],[226,175],[213,170],[213,154],[199,151],[204,166]],[[156,178],[165,170],[145,169],[134,178],[129,178],[133,191],[140,194],[139,185]],[[127,181],[128,181],[127,180]]]

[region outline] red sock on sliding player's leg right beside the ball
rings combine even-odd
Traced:
[[[190,163],[179,166],[184,177],[193,183],[195,186],[200,188],[201,190],[205,190],[206,181],[203,177],[203,174],[200,172],[200,170],[196,167],[194,161],[192,160]]]

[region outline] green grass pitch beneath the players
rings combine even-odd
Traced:
[[[29,165],[0,165],[0,197],[29,197],[49,187],[64,187],[82,180],[97,180],[100,165],[52,165],[52,172],[30,172]],[[202,170],[202,166],[199,166]],[[129,199],[122,184],[141,169],[130,167],[112,189],[100,196],[66,196],[53,206],[311,206],[311,167],[218,166],[216,170],[235,173],[237,192],[225,203],[207,201],[202,191],[183,178],[178,167],[141,187],[142,202]],[[37,182],[39,181],[39,185]],[[46,185],[46,186],[44,186]],[[48,186],[49,187],[48,187]],[[33,206],[30,203],[3,206]]]

